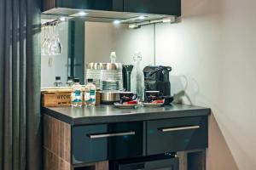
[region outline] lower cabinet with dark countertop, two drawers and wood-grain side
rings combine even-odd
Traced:
[[[100,105],[42,113],[45,170],[206,169],[210,109]]]

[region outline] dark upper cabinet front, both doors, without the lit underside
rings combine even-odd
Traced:
[[[181,0],[44,0],[43,12],[53,8],[61,8],[57,13],[64,11],[65,14],[72,13],[72,10],[68,10],[72,8],[180,16]]]

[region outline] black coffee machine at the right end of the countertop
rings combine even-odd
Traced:
[[[170,66],[146,66],[143,70],[145,77],[145,91],[160,91],[166,104],[173,100],[171,96],[171,82],[169,72],[172,71]]]

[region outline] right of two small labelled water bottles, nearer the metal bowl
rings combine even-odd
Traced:
[[[93,84],[93,79],[88,79],[87,82],[84,89],[84,104],[93,106],[96,104],[96,86]]]

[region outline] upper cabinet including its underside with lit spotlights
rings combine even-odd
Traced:
[[[180,0],[44,0],[42,18],[146,25],[173,22],[180,8]]]

